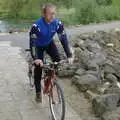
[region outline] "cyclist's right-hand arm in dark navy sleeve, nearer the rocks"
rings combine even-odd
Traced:
[[[72,53],[70,51],[69,42],[68,42],[67,35],[65,33],[65,30],[64,30],[64,25],[61,23],[61,21],[59,21],[59,23],[58,23],[57,33],[58,33],[59,40],[61,41],[61,44],[64,48],[65,53],[66,53],[66,56],[68,58],[71,58]]]

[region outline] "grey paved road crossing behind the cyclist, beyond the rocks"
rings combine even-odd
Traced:
[[[105,24],[94,24],[94,25],[85,25],[80,26],[77,28],[70,28],[66,29],[67,34],[69,37],[71,37],[73,34],[82,34],[86,32],[91,31],[97,31],[97,30],[109,30],[112,28],[120,28],[120,21],[111,22],[111,23],[105,23]],[[21,48],[28,48],[29,46],[29,34],[27,33],[19,33],[19,34],[10,34],[10,35],[3,35],[0,34],[0,41],[11,41],[12,46],[19,46]]]

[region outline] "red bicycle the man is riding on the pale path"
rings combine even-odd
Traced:
[[[29,51],[30,50],[26,50]],[[44,62],[42,66],[42,79],[41,79],[41,98],[43,100],[43,95],[48,95],[49,97],[49,106],[52,114],[53,120],[64,120],[65,119],[65,99],[63,91],[57,82],[57,72],[59,70],[59,65],[66,63],[65,61],[60,62]],[[33,83],[33,74],[32,67],[34,63],[28,63],[29,72],[28,77],[30,78],[30,85]],[[32,85],[33,87],[33,85]]]

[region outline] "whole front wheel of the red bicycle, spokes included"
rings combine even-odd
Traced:
[[[49,94],[50,111],[53,120],[64,120],[65,100],[60,85],[55,80]]]

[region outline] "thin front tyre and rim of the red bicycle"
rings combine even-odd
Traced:
[[[59,97],[59,100],[61,100],[59,102],[61,102],[61,104],[62,104],[61,105],[62,111],[61,111],[60,116],[55,115],[56,110],[54,110],[54,105],[56,105],[56,104],[53,102],[53,88],[54,87],[57,88],[58,97]],[[65,99],[64,99],[63,91],[62,91],[60,85],[58,84],[57,80],[54,81],[53,87],[50,90],[49,105],[50,105],[50,111],[51,111],[53,120],[64,120],[65,119]],[[58,107],[57,107],[57,109],[58,109]]]

